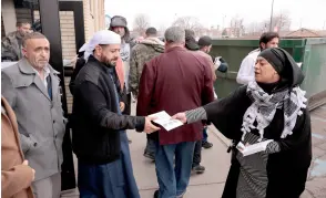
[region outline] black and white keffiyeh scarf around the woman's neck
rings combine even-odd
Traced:
[[[307,98],[305,97],[305,91],[296,86],[292,90],[284,90],[269,95],[253,81],[248,84],[246,93],[253,103],[243,117],[241,129],[243,132],[243,140],[246,133],[256,128],[259,132],[261,137],[258,142],[261,142],[264,137],[264,128],[273,121],[276,108],[284,110],[284,129],[281,138],[292,135],[297,116],[303,114],[300,110],[306,108]],[[257,122],[256,126],[254,126],[255,121]]]

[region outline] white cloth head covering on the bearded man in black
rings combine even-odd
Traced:
[[[121,44],[121,37],[110,30],[101,30],[94,33],[90,42],[85,46],[84,59],[88,60],[90,54],[99,44]]]

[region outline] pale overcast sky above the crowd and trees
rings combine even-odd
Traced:
[[[196,17],[210,28],[228,27],[233,17],[244,18],[244,23],[261,22],[271,15],[272,0],[105,0],[105,13],[126,18],[129,28],[139,13],[146,13],[151,25],[169,27],[183,15]],[[326,0],[274,0],[274,13],[287,10],[292,29],[326,29]]]

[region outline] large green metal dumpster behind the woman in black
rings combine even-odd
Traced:
[[[211,54],[223,56],[228,63],[227,73],[217,73],[214,84],[218,97],[225,97],[240,84],[236,75],[242,60],[257,49],[258,40],[214,40]],[[281,48],[288,51],[302,64],[306,79],[302,88],[307,91],[309,108],[326,103],[326,38],[284,39]]]

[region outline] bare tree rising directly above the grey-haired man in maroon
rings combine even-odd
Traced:
[[[196,35],[201,34],[201,31],[203,29],[203,25],[200,23],[197,18],[194,17],[181,17],[177,18],[173,23],[173,27],[181,27],[183,29],[190,29],[193,30]]]

